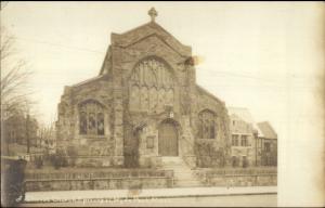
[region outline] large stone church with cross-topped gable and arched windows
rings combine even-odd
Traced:
[[[224,102],[196,83],[192,49],[151,21],[112,34],[96,77],[65,87],[57,146],[79,166],[159,167],[180,157],[191,167],[230,157]]]

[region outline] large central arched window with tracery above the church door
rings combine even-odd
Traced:
[[[135,65],[129,81],[129,108],[132,112],[160,113],[174,102],[174,77],[158,57]]]

